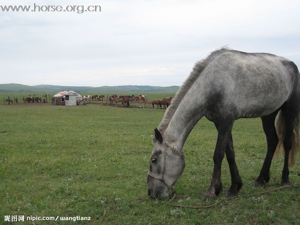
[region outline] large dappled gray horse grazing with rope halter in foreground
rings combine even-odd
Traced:
[[[234,121],[240,118],[260,117],[267,138],[267,154],[254,185],[269,181],[274,152],[282,147],[285,158],[281,184],[289,185],[289,166],[295,164],[300,149],[299,109],[300,74],[293,62],[267,53],[226,48],[211,52],[195,64],[155,129],[147,179],[149,196],[164,199],[169,190],[174,192],[172,187],[185,167],[182,147],[203,116],[214,122],[218,136],[212,180],[202,200],[215,199],[222,190],[221,164],[225,154],[231,174],[226,197],[236,196],[242,187],[231,134]]]

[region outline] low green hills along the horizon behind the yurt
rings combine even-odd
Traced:
[[[0,92],[5,93],[57,93],[59,91],[76,91],[77,93],[175,93],[179,86],[161,87],[148,85],[122,85],[122,86],[59,86],[59,85],[22,85],[0,84]]]

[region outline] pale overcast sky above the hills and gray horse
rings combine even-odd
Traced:
[[[64,12],[70,1],[35,1],[0,3],[31,5],[0,7],[2,84],[181,85],[196,61],[224,45],[300,67],[300,1],[71,1],[101,6],[83,13]],[[63,9],[32,12],[34,3]]]

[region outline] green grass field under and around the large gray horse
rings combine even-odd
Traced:
[[[25,216],[24,222],[13,224],[300,224],[300,190],[295,188],[228,200],[204,210],[174,208],[167,200],[150,199],[146,180],[151,136],[164,110],[46,104],[1,105],[0,111],[0,224],[10,224],[4,215]],[[186,168],[174,186],[178,194],[174,204],[214,202],[200,198],[210,184],[216,136],[214,125],[204,118],[190,133],[183,149]],[[282,158],[272,162],[265,187],[252,186],[266,153],[260,119],[236,121],[233,140],[244,183],[239,195],[279,187]],[[299,155],[290,169],[292,184],[299,185],[298,173]],[[230,186],[226,159],[222,182],[225,190],[218,199]],[[30,216],[91,220],[33,223],[26,220]]]

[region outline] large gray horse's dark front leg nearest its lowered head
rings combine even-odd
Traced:
[[[212,174],[212,180],[210,187],[202,197],[202,201],[211,200],[217,198],[222,191],[221,183],[221,166],[225,155],[227,144],[231,137],[231,130],[234,120],[224,120],[219,122],[218,138],[216,148],[214,150],[214,172]]]

